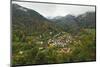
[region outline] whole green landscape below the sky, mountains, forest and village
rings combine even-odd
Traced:
[[[12,65],[96,60],[96,13],[47,19],[12,4]]]

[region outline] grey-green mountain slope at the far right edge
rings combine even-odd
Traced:
[[[84,28],[95,28],[96,25],[96,13],[86,12],[77,17],[79,25]]]

